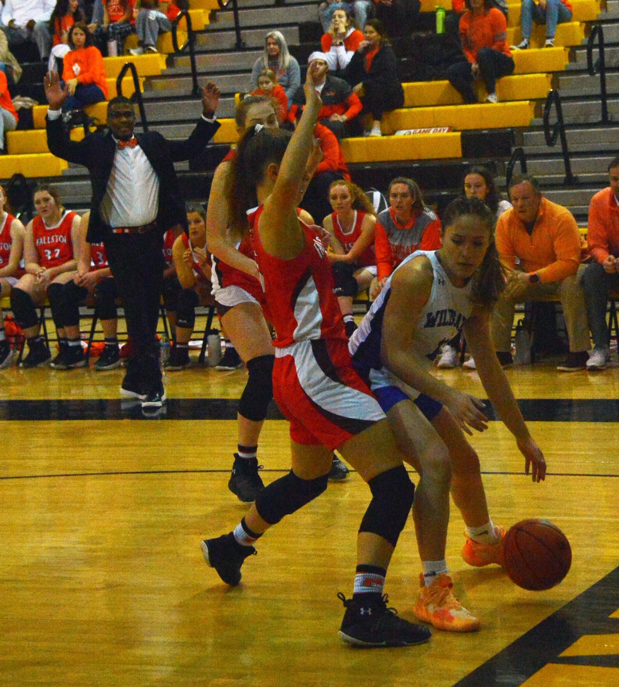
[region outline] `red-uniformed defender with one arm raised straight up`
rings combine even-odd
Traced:
[[[251,233],[277,331],[273,387],[290,420],[292,469],[258,494],[234,532],[203,541],[202,551],[224,582],[239,583],[253,543],[325,491],[331,451],[338,448],[373,495],[358,537],[355,593],[350,600],[340,595],[346,607],[340,638],[361,646],[419,644],[430,631],[390,613],[382,596],[414,489],[384,414],[351,367],[325,246],[296,212],[322,104],[312,70],[292,139],[285,131],[250,128],[231,170],[231,225],[241,236]],[[254,196],[259,207],[250,210]]]

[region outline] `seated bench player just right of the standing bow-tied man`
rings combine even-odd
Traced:
[[[196,324],[200,300],[211,295],[211,260],[207,252],[207,213],[199,203],[187,203],[189,236],[183,232],[174,241],[174,264],[183,291],[176,306],[176,339],[164,367],[170,372],[189,367],[189,341]]]

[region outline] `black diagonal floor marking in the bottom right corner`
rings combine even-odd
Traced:
[[[535,592],[537,594],[537,592]],[[531,599],[535,596],[532,594]],[[618,655],[565,656],[560,654],[584,635],[619,633],[619,567],[568,604],[506,646],[469,673],[454,687],[519,687],[548,664],[617,668]]]

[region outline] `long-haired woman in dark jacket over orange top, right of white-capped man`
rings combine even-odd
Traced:
[[[397,74],[397,60],[385,28],[377,19],[364,26],[365,40],[347,67],[347,81],[361,99],[364,136],[381,136],[382,115],[404,105],[404,90]]]

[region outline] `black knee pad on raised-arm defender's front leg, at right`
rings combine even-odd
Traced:
[[[359,531],[378,534],[395,546],[410,513],[414,484],[404,465],[399,465],[373,477],[368,486],[372,492],[372,500]]]

